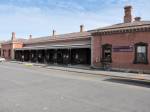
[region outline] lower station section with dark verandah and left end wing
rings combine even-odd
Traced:
[[[11,41],[2,44],[2,56],[17,61],[60,64],[60,65],[90,65],[91,37],[90,33],[80,32],[21,40],[12,33]]]

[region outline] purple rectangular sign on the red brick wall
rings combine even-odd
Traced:
[[[113,52],[133,52],[133,46],[114,46]]]

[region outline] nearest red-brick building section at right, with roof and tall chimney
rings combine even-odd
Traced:
[[[132,20],[132,7],[124,8],[124,22],[91,31],[92,62],[113,69],[150,69],[150,21]],[[97,52],[99,51],[99,52]]]

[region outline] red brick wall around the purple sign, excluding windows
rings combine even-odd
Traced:
[[[133,46],[136,43],[148,43],[148,62],[150,63],[150,32],[136,32],[124,34],[112,34],[93,37],[93,65],[100,67],[101,46],[111,44],[112,46]],[[134,50],[135,51],[135,50]],[[113,52],[112,68],[128,69],[150,69],[150,64],[133,64],[135,52]],[[97,60],[98,59],[98,60]]]

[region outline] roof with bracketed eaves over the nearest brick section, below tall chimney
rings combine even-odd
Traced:
[[[150,27],[150,21],[133,21],[131,23],[119,23],[107,27],[97,28],[91,30],[91,33],[95,32],[107,32],[107,31],[116,31],[116,30],[126,30],[126,29],[136,29],[136,28],[145,28]]]

